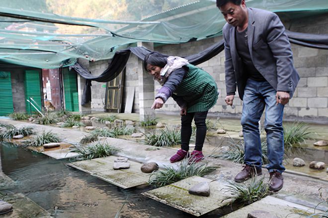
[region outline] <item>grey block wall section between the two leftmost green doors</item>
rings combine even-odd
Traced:
[[[10,69],[12,103],[14,112],[26,112],[24,91],[24,70],[21,68]]]

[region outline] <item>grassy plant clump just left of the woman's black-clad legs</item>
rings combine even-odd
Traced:
[[[145,134],[145,142],[148,145],[153,145],[157,147],[170,147],[173,145],[181,144],[181,134],[180,131],[165,127],[164,129],[160,130],[160,134]]]

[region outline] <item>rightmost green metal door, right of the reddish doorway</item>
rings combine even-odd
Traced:
[[[63,83],[65,95],[65,109],[68,111],[79,111],[79,94],[77,73],[68,68],[63,69]]]

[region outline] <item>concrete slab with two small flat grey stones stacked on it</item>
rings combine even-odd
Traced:
[[[110,156],[68,163],[67,165],[124,189],[148,184],[150,173],[144,173],[140,170],[141,163],[128,161],[128,163],[131,163],[130,168],[115,170],[113,169],[113,164],[116,158]]]

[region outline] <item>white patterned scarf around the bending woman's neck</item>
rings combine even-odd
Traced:
[[[189,64],[187,59],[178,56],[168,56],[167,63],[162,68],[160,73],[161,79],[155,79],[155,80],[157,80],[161,84],[161,86],[163,86],[167,80],[167,77],[169,76],[169,74],[171,74],[173,70],[181,68],[182,66],[185,66],[187,64]]]

